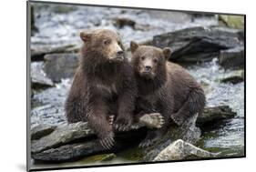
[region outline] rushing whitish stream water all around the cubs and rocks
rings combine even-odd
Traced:
[[[136,22],[117,28],[115,17],[126,17]],[[217,25],[214,15],[194,17],[179,12],[157,12],[135,9],[108,7],[35,5],[36,27],[39,32],[31,37],[31,46],[60,46],[80,44],[78,31],[98,27],[117,29],[123,36],[125,45],[129,41],[147,41],[153,35],[179,30],[196,25]],[[44,62],[32,65],[43,66]],[[225,157],[244,155],[244,82],[236,85],[220,83],[220,79],[232,73],[218,65],[218,59],[211,62],[186,66],[189,74],[203,86],[207,96],[207,106],[227,105],[237,113],[232,119],[221,122],[217,128],[207,129],[198,146],[212,152],[221,152]],[[31,127],[37,124],[57,125],[66,123],[64,102],[71,85],[71,78],[63,79],[54,87],[45,90],[33,90]],[[136,162],[140,157],[136,148],[118,154],[109,163]],[[96,157],[87,157],[72,165],[87,165],[97,161]],[[58,165],[68,166],[70,163]],[[40,167],[40,166],[37,166]],[[45,166],[44,166],[45,167]]]

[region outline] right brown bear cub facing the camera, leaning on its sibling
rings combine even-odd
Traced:
[[[205,106],[205,95],[196,82],[181,66],[168,62],[170,48],[138,46],[131,42],[132,66],[138,85],[136,113],[159,112],[165,124],[148,131],[139,147],[154,144],[169,129],[173,121],[181,126],[184,121]]]

